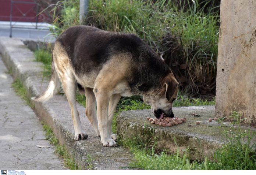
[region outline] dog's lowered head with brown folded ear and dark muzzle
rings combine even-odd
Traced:
[[[161,89],[155,93],[157,94],[143,96],[144,102],[151,106],[154,116],[157,119],[164,116],[173,118],[173,102],[177,98],[178,82],[172,73],[162,79]]]

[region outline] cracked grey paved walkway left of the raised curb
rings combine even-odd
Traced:
[[[45,139],[42,124],[35,113],[15,94],[12,82],[0,56],[0,169],[67,169]]]

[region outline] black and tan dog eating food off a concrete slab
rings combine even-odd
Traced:
[[[117,146],[111,126],[121,96],[143,96],[157,119],[174,117],[178,82],[163,59],[136,34],[70,27],[56,39],[51,69],[46,91],[32,100],[49,100],[61,82],[71,107],[75,141],[88,137],[77,111],[77,88],[85,93],[85,114],[103,146]]]

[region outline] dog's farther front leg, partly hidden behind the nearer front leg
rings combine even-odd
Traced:
[[[121,95],[120,94],[113,94],[109,100],[109,134],[111,135],[112,139],[114,141],[117,141],[117,134],[113,134],[112,132],[112,120],[115,113],[115,109],[117,107],[118,101],[120,100]]]

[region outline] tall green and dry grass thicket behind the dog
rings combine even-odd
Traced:
[[[86,24],[103,30],[136,33],[163,56],[183,93],[215,94],[219,1],[89,1]],[[54,16],[58,36],[79,25],[79,1],[59,1]]]

